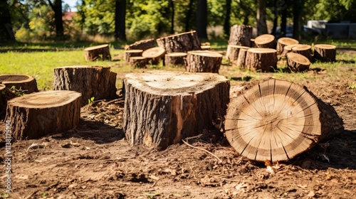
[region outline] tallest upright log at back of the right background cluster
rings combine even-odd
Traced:
[[[234,25],[230,28],[229,45],[251,46],[252,27]]]

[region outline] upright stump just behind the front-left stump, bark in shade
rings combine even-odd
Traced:
[[[110,67],[75,65],[54,69],[53,90],[73,90],[82,94],[80,106],[88,99],[115,99],[116,73]]]

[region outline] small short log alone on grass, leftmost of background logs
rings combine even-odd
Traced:
[[[85,60],[111,60],[110,48],[108,44],[96,45],[89,48],[84,48]]]

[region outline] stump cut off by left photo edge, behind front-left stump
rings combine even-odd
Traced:
[[[0,83],[9,89],[15,87],[25,94],[38,92],[36,79],[30,75],[0,75]]]

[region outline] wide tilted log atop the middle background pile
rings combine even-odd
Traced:
[[[158,38],[157,44],[164,48],[167,53],[182,52],[187,53],[190,50],[201,50],[197,31],[180,33],[173,36]]]

